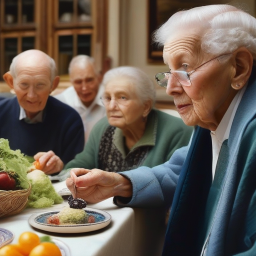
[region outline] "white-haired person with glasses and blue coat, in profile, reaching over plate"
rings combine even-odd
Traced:
[[[121,175],[76,168],[66,184],[90,202],[171,205],[162,255],[256,255],[256,19],[201,6],[173,14],[154,38],[169,70],[155,78],[196,126],[189,145]]]

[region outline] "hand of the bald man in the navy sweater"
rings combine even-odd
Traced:
[[[63,169],[63,162],[53,151],[38,152],[34,159],[39,161],[39,169],[46,174],[59,172]]]

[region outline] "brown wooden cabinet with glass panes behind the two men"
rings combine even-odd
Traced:
[[[77,54],[95,58],[104,68],[107,0],[0,0],[0,78],[12,58],[40,49],[66,74]]]

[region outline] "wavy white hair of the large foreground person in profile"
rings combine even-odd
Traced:
[[[233,52],[245,46],[256,59],[256,18],[229,4],[212,4],[178,11],[153,34],[163,45],[177,31],[197,29],[207,53]]]

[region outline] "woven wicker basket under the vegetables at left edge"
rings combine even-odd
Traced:
[[[0,190],[0,217],[14,215],[22,211],[26,207],[30,192],[30,183],[27,189]]]

